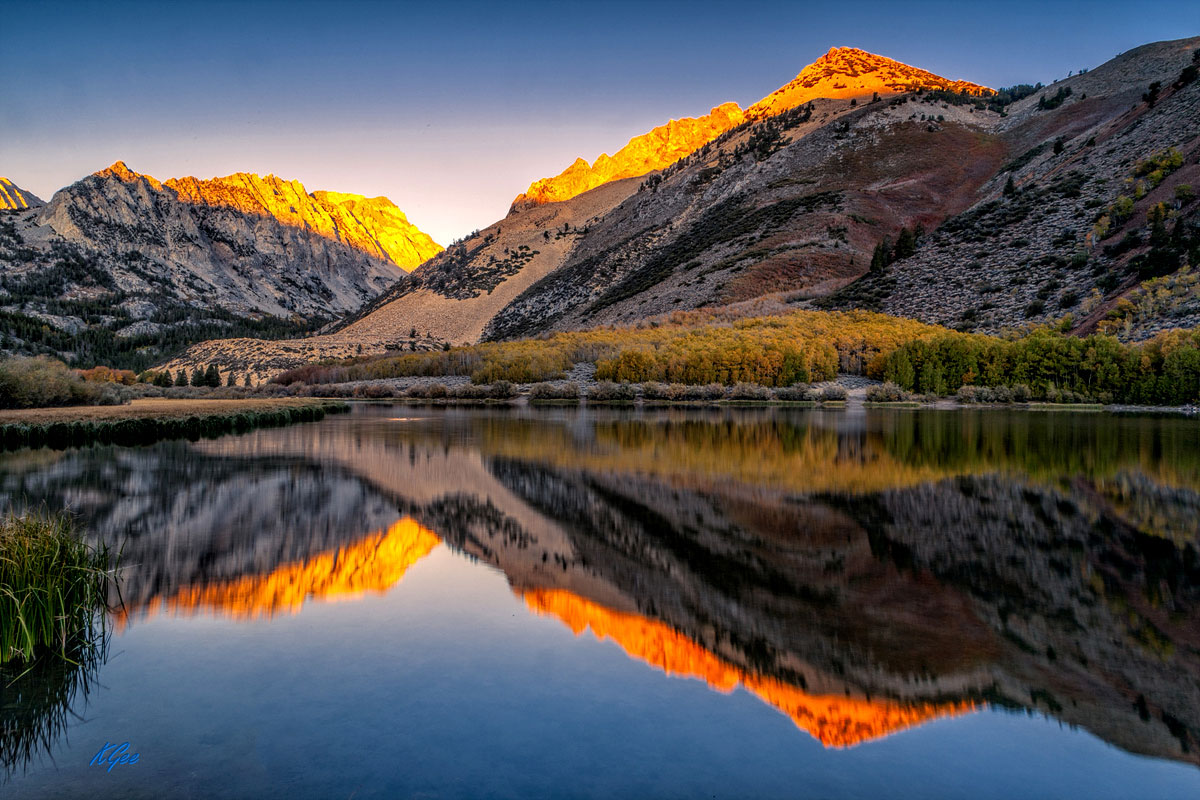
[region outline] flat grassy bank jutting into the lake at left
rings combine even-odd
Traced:
[[[316,422],[349,410],[313,398],[162,399],[128,405],[77,405],[0,411],[0,450],[89,444],[140,445],[163,439],[215,438],[252,428]]]

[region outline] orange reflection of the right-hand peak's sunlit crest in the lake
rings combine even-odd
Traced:
[[[530,609],[558,618],[576,636],[590,628],[598,639],[612,639],[631,657],[667,675],[697,678],[721,692],[742,686],[786,714],[826,747],[851,747],[976,708],[972,703],[901,704],[844,694],[810,694],[776,678],[736,667],[656,620],[616,612],[562,589],[535,589],[521,596]]]

